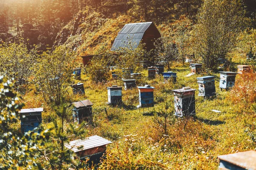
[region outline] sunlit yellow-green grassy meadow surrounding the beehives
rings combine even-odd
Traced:
[[[239,56],[240,57],[240,56]],[[244,58],[236,57],[235,64],[246,62]],[[166,68],[165,68],[166,71]],[[154,108],[138,109],[138,89],[124,90],[122,80],[110,79],[107,82],[93,83],[83,72],[81,79],[75,82],[84,83],[85,94],[73,95],[72,89],[67,89],[70,102],[89,99],[93,102],[93,125],[85,125],[87,133],[84,136],[72,136],[70,140],[86,136],[102,136],[113,143],[107,147],[106,159],[99,165],[99,169],[217,169],[217,156],[247,150],[256,150],[256,141],[250,137],[250,130],[255,130],[256,114],[252,109],[252,102],[239,101],[239,95],[250,95],[242,91],[220,91],[219,73],[211,72],[195,74],[190,73],[189,64],[180,63],[172,65],[171,71],[177,72],[177,83],[163,83],[163,77],[157,75],[155,79],[148,79],[147,70],[142,72],[142,78],[137,80],[138,86],[149,84],[154,90]],[[255,73],[250,73],[255,77]],[[198,96],[198,83],[196,77],[215,76],[216,96],[204,99]],[[246,81],[239,81],[246,75],[238,74],[236,86]],[[252,79],[255,88],[255,78]],[[107,87],[119,85],[122,90],[122,105],[112,107],[107,105]],[[191,87],[195,91],[196,115],[192,118],[175,118],[170,116],[167,126],[168,135],[163,135],[163,126],[156,123],[157,114],[165,109],[166,104],[174,107],[172,90]],[[252,89],[255,91],[255,89]],[[51,107],[45,104],[41,95],[38,95],[31,85],[26,94],[22,95],[20,102],[25,108],[44,107],[43,127],[49,126],[55,117]],[[105,109],[107,113],[105,112]],[[215,113],[212,109],[221,111]],[[72,123],[72,112],[69,110],[65,125]],[[160,118],[161,119],[161,118]],[[186,120],[186,126],[184,121]],[[254,125],[255,126],[255,125]],[[12,128],[20,130],[18,123]],[[253,129],[254,128],[254,129]]]

